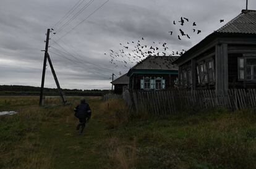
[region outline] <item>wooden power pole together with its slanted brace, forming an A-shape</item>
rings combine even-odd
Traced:
[[[58,78],[57,78],[56,73],[55,73],[54,68],[53,68],[53,63],[51,62],[51,58],[49,57],[49,53],[48,53],[49,33],[50,33],[50,29],[47,30],[47,34],[46,34],[45,59],[43,61],[43,75],[42,75],[42,81],[41,81],[41,91],[40,91],[39,105],[42,105],[42,103],[43,103],[43,88],[44,88],[44,85],[45,85],[45,70],[46,70],[47,59],[48,59],[49,65],[51,67],[51,73],[53,73],[55,83],[56,83],[57,88],[59,90],[59,96],[61,96],[63,104],[66,104],[66,102],[67,102],[66,97],[65,97],[64,93],[62,93],[61,86],[59,85]]]

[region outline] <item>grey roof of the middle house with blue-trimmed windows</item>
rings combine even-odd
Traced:
[[[178,70],[173,61],[179,56],[148,56],[130,70]],[[129,72],[130,72],[129,70]]]

